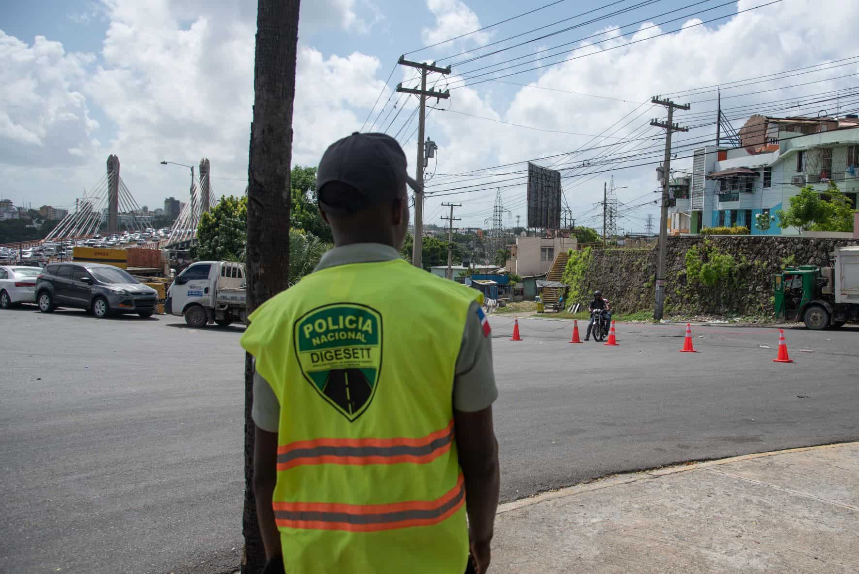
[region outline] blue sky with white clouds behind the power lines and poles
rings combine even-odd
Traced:
[[[315,165],[327,144],[372,128],[398,137],[413,168],[417,101],[393,92],[415,84],[414,70],[395,65],[406,54],[453,68],[430,77],[450,99],[430,102],[427,135],[439,150],[428,222],[455,201],[463,223],[483,226],[500,188],[505,223],[524,224],[522,162],[533,159],[563,169],[565,205],[594,227],[613,176],[618,227],[640,231],[656,212],[646,202],[663,144],[649,120],[665,112],[651,95],[691,102],[676,118],[692,128],[675,136],[679,169],[713,142],[716,85],[737,130],[754,112],[859,109],[852,0],[544,0],[521,15],[525,6],[304,2],[293,162]],[[109,154],[152,209],[187,194],[186,171],[161,160],[208,157],[215,192],[243,192],[255,27],[253,0],[2,3],[0,196],[74,206]]]

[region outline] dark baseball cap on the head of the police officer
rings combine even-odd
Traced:
[[[326,191],[326,184],[334,181],[348,187],[336,186],[332,192],[328,186]],[[316,197],[322,211],[355,213],[403,197],[406,184],[416,192],[421,189],[406,173],[405,153],[397,140],[385,133],[356,131],[328,146],[316,172]]]

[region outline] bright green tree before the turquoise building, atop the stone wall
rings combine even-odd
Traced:
[[[776,211],[779,227],[800,231],[852,231],[854,213],[850,201],[834,182],[823,193],[812,186],[803,187],[790,198],[789,210]]]

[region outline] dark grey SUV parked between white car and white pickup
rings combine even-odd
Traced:
[[[42,313],[58,307],[83,308],[96,317],[155,313],[158,292],[119,267],[101,263],[52,263],[36,282],[36,302]]]

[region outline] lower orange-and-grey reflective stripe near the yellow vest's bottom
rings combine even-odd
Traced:
[[[374,532],[442,522],[460,510],[465,501],[466,489],[460,474],[454,488],[436,500],[396,504],[276,502],[272,507],[280,527]]]

